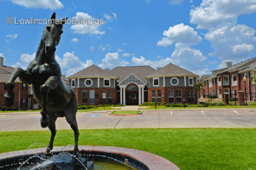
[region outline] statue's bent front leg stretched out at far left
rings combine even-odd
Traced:
[[[29,82],[30,73],[28,71],[25,71],[20,67],[14,69],[10,80],[6,83],[7,93],[4,95],[4,105],[6,105],[7,107],[12,106],[14,103],[13,88],[14,88],[14,81],[16,80],[17,77],[21,77],[21,79],[24,80],[24,82],[30,83]]]

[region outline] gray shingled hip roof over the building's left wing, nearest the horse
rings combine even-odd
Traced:
[[[82,69],[81,71],[78,71],[77,73],[74,73],[66,77],[66,79],[71,79],[76,77],[111,77],[114,79],[118,79],[117,76],[111,74],[110,72],[94,64],[90,65],[89,67],[86,67],[85,69]]]

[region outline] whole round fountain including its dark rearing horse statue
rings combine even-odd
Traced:
[[[14,81],[19,77],[24,84],[32,85],[36,101],[42,106],[40,111],[41,127],[48,127],[51,138],[48,147],[20,150],[0,154],[0,170],[98,170],[97,161],[107,160],[118,163],[122,170],[179,170],[172,162],[141,150],[117,148],[114,146],[79,146],[78,125],[76,122],[76,95],[74,90],[65,85],[61,79],[60,66],[55,60],[56,45],[63,33],[62,24],[66,20],[55,20],[46,26],[40,40],[36,58],[26,70],[16,68],[6,83],[7,93],[4,104],[10,107],[14,103]],[[74,130],[74,149],[53,147],[56,134],[55,122],[58,117],[65,117]],[[46,150],[46,151],[45,151]],[[74,154],[71,154],[71,153]],[[121,164],[120,164],[121,163]],[[123,166],[127,165],[127,166]],[[100,165],[101,166],[101,165]],[[113,168],[112,168],[113,169]],[[117,168],[114,168],[117,170]],[[106,169],[107,170],[107,169]]]

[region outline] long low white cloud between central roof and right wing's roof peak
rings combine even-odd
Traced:
[[[143,56],[141,56],[140,58],[132,57],[132,63],[134,65],[149,65],[149,66],[153,67],[154,69],[156,69],[157,67],[164,67],[168,63],[173,63],[173,64],[177,65],[179,63],[179,61],[172,59],[170,57],[162,58],[158,61],[150,61],[150,60],[146,60]]]

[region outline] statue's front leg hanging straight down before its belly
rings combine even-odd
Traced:
[[[56,87],[58,86],[58,82],[59,82],[58,77],[51,76],[40,87],[40,93],[42,96],[42,110],[40,111],[42,118],[40,119],[40,121],[41,121],[42,128],[48,127],[48,124],[49,124],[49,117],[47,116],[47,109],[46,109],[48,93],[50,90],[56,89]]]

